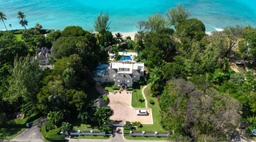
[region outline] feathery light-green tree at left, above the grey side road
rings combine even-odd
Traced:
[[[38,61],[30,56],[16,57],[10,74],[6,100],[16,107],[21,106],[23,112],[35,112],[38,103],[37,94],[42,87],[43,77]]]

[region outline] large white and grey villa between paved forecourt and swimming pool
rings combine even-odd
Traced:
[[[120,53],[121,54],[121,53]],[[94,81],[101,83],[114,82],[114,85],[132,87],[140,77],[144,77],[144,63],[134,61],[137,54],[125,53],[128,56],[120,61],[111,61],[110,65],[98,65],[94,71]]]

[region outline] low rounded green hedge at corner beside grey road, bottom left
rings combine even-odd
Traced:
[[[46,125],[42,125],[41,132],[46,140],[63,140],[65,138],[64,135],[60,135],[61,128],[55,128],[47,132]]]

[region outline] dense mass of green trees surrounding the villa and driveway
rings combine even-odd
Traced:
[[[6,20],[5,14],[0,18]],[[111,132],[112,109],[92,107],[100,96],[92,90],[92,72],[108,61],[108,52],[123,50],[135,50],[147,68],[139,84],[150,84],[145,93],[154,127],[143,125],[139,131],[167,131],[177,141],[228,141],[244,131],[250,136],[256,128],[252,26],[226,27],[207,35],[204,23],[190,18],[180,5],[168,10],[166,17],[155,14],[138,22],[134,41],[120,33],[114,37],[108,14],[95,20],[96,34],[68,26],[44,35],[40,24],[26,29],[21,11],[18,19],[25,28],[22,40],[13,31],[0,32],[0,138],[9,138],[4,131],[15,123],[8,122],[31,117],[28,123],[40,116],[46,117],[42,133],[50,140],[83,124]],[[50,54],[50,68],[42,64],[42,52]],[[139,90],[133,94],[134,106],[144,105],[138,104]]]

